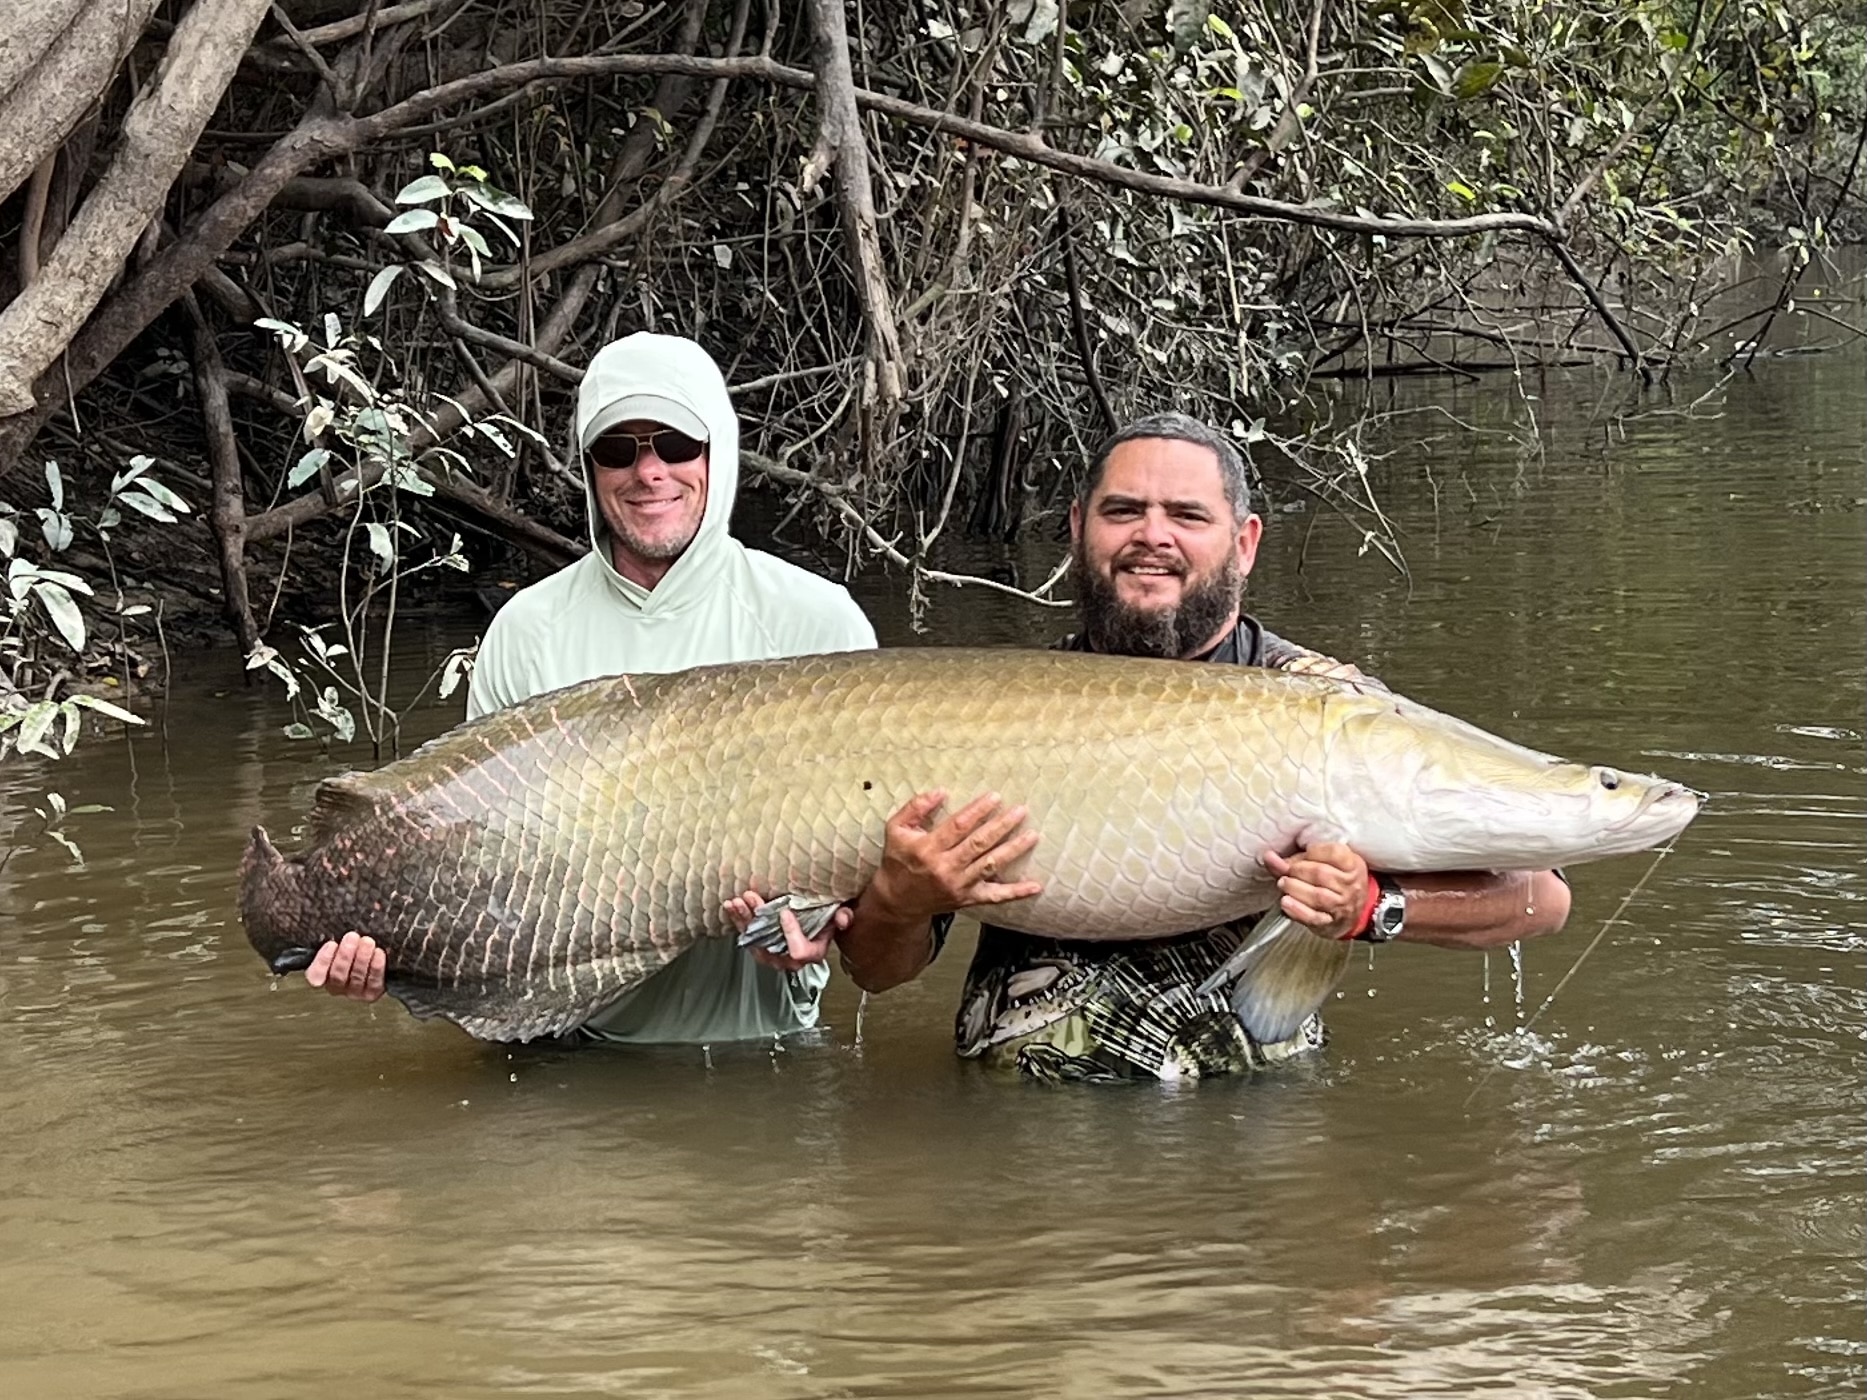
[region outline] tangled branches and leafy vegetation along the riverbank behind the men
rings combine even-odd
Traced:
[[[306,722],[390,724],[372,678],[422,581],[581,551],[568,396],[635,329],[700,338],[749,472],[917,599],[943,539],[1055,528],[1088,446],[1163,403],[1385,551],[1335,381],[1861,334],[1796,293],[1867,226],[1863,21],[45,0],[0,52],[11,734],[161,616],[293,676],[347,657]],[[52,495],[101,511],[134,461],[196,510],[54,541]]]

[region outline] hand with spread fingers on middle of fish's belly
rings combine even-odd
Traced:
[[[889,818],[881,868],[864,903],[874,902],[896,922],[926,922],[954,909],[1029,900],[1044,890],[1034,879],[999,879],[1038,844],[1034,831],[1019,831],[1027,808],[1001,806],[997,793],[982,793],[930,827],[945,801],[945,791],[924,791]]]

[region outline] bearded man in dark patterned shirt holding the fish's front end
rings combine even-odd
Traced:
[[[1262,530],[1243,457],[1225,435],[1180,413],[1120,429],[1096,452],[1070,508],[1081,631],[1059,646],[1367,679],[1240,610]],[[971,842],[958,840],[980,877],[1031,849],[1036,834],[1016,825],[1021,816],[1023,808],[1001,810],[975,825]],[[954,840],[892,825],[876,885],[902,879],[917,894],[930,890],[934,881],[913,879],[919,853],[950,855]],[[1266,851],[1264,864],[1279,877],[1281,909],[1324,937],[1492,948],[1553,933],[1568,918],[1568,885],[1550,870],[1378,875],[1333,842],[1288,859]],[[1036,1079],[1098,1081],[1234,1073],[1314,1049],[1318,1017],[1264,1045],[1245,1034],[1223,987],[1199,991],[1253,922],[1135,943],[1044,939],[984,924],[960,1004],[958,1051]],[[859,986],[883,991],[932,961],[948,924],[950,917],[902,920],[891,937],[844,939],[842,963]],[[793,939],[792,954],[807,961],[827,943]]]

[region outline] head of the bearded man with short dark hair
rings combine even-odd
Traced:
[[[1137,655],[1214,646],[1236,622],[1260,530],[1256,515],[1232,513],[1212,448],[1116,444],[1088,500],[1070,510],[1090,644]]]

